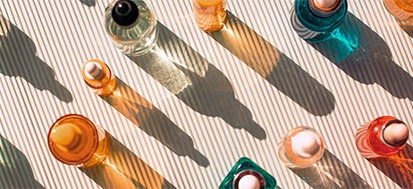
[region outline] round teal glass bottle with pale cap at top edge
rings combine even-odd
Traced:
[[[322,42],[332,36],[347,15],[347,0],[296,0],[291,25],[299,37]]]

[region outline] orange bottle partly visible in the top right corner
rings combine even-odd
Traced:
[[[383,0],[383,3],[400,25],[413,26],[413,0]]]

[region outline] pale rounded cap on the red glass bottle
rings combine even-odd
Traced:
[[[392,123],[384,128],[383,138],[387,144],[402,145],[409,138],[409,127],[403,123]]]

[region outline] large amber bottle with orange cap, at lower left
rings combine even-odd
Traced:
[[[82,168],[101,164],[108,153],[109,137],[105,130],[77,114],[57,119],[47,140],[50,152],[57,160]]]

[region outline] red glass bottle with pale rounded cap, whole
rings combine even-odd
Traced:
[[[382,116],[358,128],[358,152],[367,159],[392,156],[406,146],[409,127],[392,116]]]

